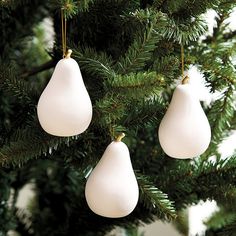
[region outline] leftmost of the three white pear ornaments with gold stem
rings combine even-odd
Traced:
[[[84,132],[92,119],[92,104],[78,63],[61,59],[37,106],[40,125],[55,136],[73,136]]]

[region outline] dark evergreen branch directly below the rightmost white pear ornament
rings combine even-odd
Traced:
[[[200,199],[225,203],[232,196],[232,189],[236,186],[236,156],[216,163],[199,161],[190,165],[189,162],[178,160],[173,163],[176,166],[174,169],[168,165],[168,168],[159,171],[158,183],[171,199],[175,199],[177,209],[197,203]],[[234,196],[231,197],[232,202],[235,202]]]

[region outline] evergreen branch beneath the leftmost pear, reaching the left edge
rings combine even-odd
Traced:
[[[70,145],[78,136],[60,138],[42,132],[35,120],[27,127],[18,130],[14,139],[0,148],[1,166],[21,166],[33,158],[51,155],[59,145]]]

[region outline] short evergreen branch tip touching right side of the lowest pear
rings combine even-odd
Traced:
[[[137,179],[142,204],[148,209],[155,210],[161,219],[174,220],[177,215],[174,203],[168,199],[168,195],[155,187],[146,176],[139,174]]]

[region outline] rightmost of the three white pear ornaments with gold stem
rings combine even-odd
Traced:
[[[170,157],[193,158],[208,148],[210,124],[188,77],[176,87],[158,135],[162,149]]]

